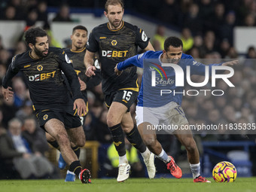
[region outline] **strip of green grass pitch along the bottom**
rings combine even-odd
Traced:
[[[92,184],[81,181],[58,180],[0,180],[1,192],[252,192],[256,178],[236,178],[233,183],[194,183],[192,178],[129,178],[118,183],[115,179],[92,179]]]

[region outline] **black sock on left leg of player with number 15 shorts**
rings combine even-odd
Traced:
[[[117,150],[119,157],[122,157],[126,154],[124,136],[121,124],[117,124],[115,126],[108,127],[111,132],[111,136],[114,142],[114,147]]]

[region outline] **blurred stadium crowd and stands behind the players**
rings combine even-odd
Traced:
[[[224,90],[224,96],[184,96],[182,107],[190,124],[245,123],[253,125],[256,115],[256,1],[255,0],[124,0],[123,20],[144,29],[155,50],[163,50],[163,41],[170,35],[178,36],[184,44],[184,53],[203,63],[217,63],[223,59],[239,59],[235,74],[228,87],[218,81],[216,89]],[[11,63],[12,56],[28,49],[23,33],[31,26],[47,30],[50,46],[70,47],[72,28],[86,26],[90,32],[105,23],[103,0],[40,1],[0,0],[0,84]],[[89,35],[89,34],[88,34]],[[142,70],[138,70],[142,77]],[[209,89],[211,84],[205,88]],[[52,163],[53,171],[47,178],[62,178],[66,171],[57,168],[59,153],[47,145],[38,124],[29,125],[26,120],[35,119],[32,103],[23,77],[13,79],[14,98],[8,102],[0,92],[0,143],[17,118],[20,129],[32,138],[42,157]],[[187,89],[194,89],[186,87]],[[107,108],[104,105],[101,84],[88,90],[89,108],[84,131],[87,144],[81,154],[81,162],[92,170],[93,178],[115,177],[115,164],[111,161],[111,135],[106,124]],[[131,111],[135,116],[135,106]],[[36,121],[35,121],[36,122]],[[255,124],[254,124],[255,126]],[[254,133],[254,132],[253,132]],[[236,166],[239,176],[256,175],[256,147],[254,134],[209,134],[201,131],[194,135],[200,149],[203,175],[211,175],[212,168],[222,160]],[[36,139],[38,138],[38,139]],[[39,139],[40,138],[40,139]],[[158,135],[165,151],[175,157],[184,176],[190,176],[190,167],[183,146],[174,136]],[[2,146],[0,146],[1,148]],[[131,147],[127,145],[131,151]],[[131,152],[132,153],[132,152]],[[144,177],[142,157],[133,160],[133,177]],[[171,177],[163,163],[156,160],[157,177]],[[0,149],[0,178],[20,178],[5,148]],[[43,178],[43,177],[42,177]]]

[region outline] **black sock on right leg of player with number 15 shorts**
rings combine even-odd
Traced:
[[[139,130],[136,125],[134,125],[133,130],[130,133],[126,133],[126,138],[139,152],[142,154],[146,151],[147,147],[142,141],[142,136],[139,134]]]

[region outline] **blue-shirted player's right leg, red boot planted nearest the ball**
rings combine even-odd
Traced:
[[[188,124],[186,125],[188,127]],[[191,130],[175,130],[174,135],[186,148],[187,159],[193,174],[194,182],[210,182],[200,175],[200,154]]]

